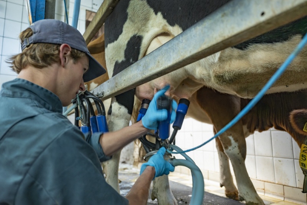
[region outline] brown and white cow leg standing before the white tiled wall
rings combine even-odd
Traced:
[[[216,131],[221,130],[227,125],[240,111],[240,99],[233,95],[218,93],[204,87],[198,91],[197,98],[201,107],[210,117]],[[246,204],[264,204],[262,199],[258,196],[245,167],[246,141],[242,121],[238,121],[234,126],[221,134],[219,139],[223,146],[224,153],[231,161],[236,176],[239,197],[244,198]],[[221,151],[222,149],[218,150]],[[223,153],[220,152],[219,154],[222,159],[227,159]],[[229,169],[227,168],[229,165],[227,165],[227,163],[223,164],[223,162],[224,161],[222,161],[220,166],[226,164],[224,174],[229,175]],[[224,167],[222,168],[222,172],[223,169]],[[221,180],[223,181],[223,179]],[[224,183],[224,181],[222,183]],[[226,184],[224,186],[226,186]]]

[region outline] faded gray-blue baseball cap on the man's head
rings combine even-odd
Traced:
[[[31,44],[68,44],[71,48],[82,51],[89,57],[90,69],[83,75],[84,82],[90,81],[105,73],[105,69],[95,60],[87,49],[82,34],[74,27],[55,19],[43,19],[33,23],[29,28],[33,35],[25,38],[21,49],[24,50]]]

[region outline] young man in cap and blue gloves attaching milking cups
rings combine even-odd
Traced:
[[[165,148],[143,165],[125,198],[105,182],[99,160],[166,119],[156,100],[168,88],[155,95],[140,122],[87,136],[88,144],[62,106],[85,89],[83,79],[104,69],[80,32],[59,20],[39,20],[19,37],[23,51],[10,58],[18,76],[0,92],[0,204],[146,204],[151,180],[174,170],[163,159]],[[173,120],[176,103],[172,107]]]

